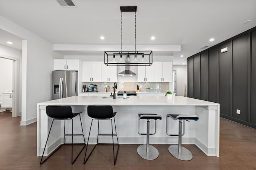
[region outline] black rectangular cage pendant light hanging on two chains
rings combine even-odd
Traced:
[[[107,66],[150,66],[152,65],[153,63],[152,51],[136,51],[137,6],[120,6],[120,10],[121,10],[121,50],[120,51],[104,51],[104,63]],[[122,51],[122,12],[134,12],[135,14],[134,51]]]

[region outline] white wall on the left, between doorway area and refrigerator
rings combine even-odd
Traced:
[[[20,123],[27,125],[36,121],[36,104],[51,100],[53,59],[63,59],[64,55],[53,51],[52,43],[2,16],[0,16],[0,29],[26,40],[22,43],[22,120]]]

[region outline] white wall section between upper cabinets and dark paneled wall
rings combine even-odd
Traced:
[[[187,67],[174,65],[172,70],[176,70],[177,95],[184,96],[184,84],[187,83]]]

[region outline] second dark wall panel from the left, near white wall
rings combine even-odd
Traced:
[[[200,55],[194,57],[194,98],[200,99]]]

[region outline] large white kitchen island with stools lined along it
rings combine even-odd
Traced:
[[[164,96],[129,96],[128,99],[102,98],[102,96],[72,96],[58,100],[51,100],[37,104],[37,156],[42,155],[46,138],[50,129],[52,119],[46,115],[48,105],[69,105],[73,112],[81,113],[84,135],[87,139],[91,118],[87,115],[88,105],[110,105],[116,114],[116,128],[120,144],[142,144],[146,143],[146,136],[138,134],[138,113],[157,113],[162,120],[156,121],[156,134],[150,136],[151,144],[177,144],[178,137],[166,135],[167,114],[197,115],[198,121],[185,121],[185,135],[182,144],[194,144],[207,156],[219,157],[219,134],[220,134],[220,105],[204,100],[175,96],[166,99]],[[153,121],[154,122],[154,121]],[[150,127],[153,131],[154,123]],[[80,120],[74,118],[74,134],[82,133]],[[77,126],[76,126],[77,125]],[[96,143],[98,123],[94,121],[89,144]],[[110,121],[100,122],[100,133],[110,133]],[[71,133],[71,122],[66,123],[66,133]],[[140,132],[146,132],[146,122],[140,122]],[[168,133],[178,133],[178,121],[168,119]],[[64,121],[54,121],[53,129],[46,146],[45,154],[63,143]],[[70,138],[66,139],[67,143]],[[82,137],[74,137],[74,143],[82,143]],[[87,140],[86,140],[87,141]],[[112,142],[112,137],[102,137],[100,143]],[[168,149],[168,148],[167,148]]]

